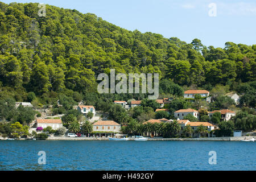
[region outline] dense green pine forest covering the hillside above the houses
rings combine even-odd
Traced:
[[[38,10],[38,3],[0,2],[1,97],[30,101],[28,93],[34,92],[45,104],[62,93],[93,102],[97,75],[113,68],[159,73],[162,94],[179,95],[174,88],[180,86],[212,90],[223,85],[247,94],[244,104],[255,106],[256,44],[206,47],[199,39],[185,43],[125,30],[90,13],[47,5],[40,17]]]

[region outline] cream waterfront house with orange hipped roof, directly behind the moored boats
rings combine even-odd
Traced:
[[[119,133],[121,129],[121,125],[114,121],[97,121],[93,123],[93,131],[105,131],[112,133]]]

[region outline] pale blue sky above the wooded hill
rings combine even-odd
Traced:
[[[205,46],[224,48],[225,42],[256,44],[255,0],[40,0],[39,2],[93,13],[127,30],[154,32],[187,43],[200,39]],[[210,3],[216,5],[216,16]],[[47,13],[47,12],[46,12]],[[212,15],[212,14],[211,14]]]

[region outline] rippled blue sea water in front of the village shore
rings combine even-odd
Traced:
[[[256,170],[256,142],[0,140],[0,170]]]

